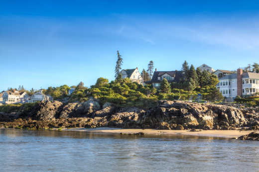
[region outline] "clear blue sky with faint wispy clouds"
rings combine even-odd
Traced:
[[[94,85],[123,68],[259,63],[257,0],[0,1],[0,90]]]

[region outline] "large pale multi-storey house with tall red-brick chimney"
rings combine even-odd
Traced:
[[[259,93],[259,74],[243,73],[238,69],[237,74],[226,75],[219,79],[218,89],[228,101],[233,101],[237,95],[253,95]]]

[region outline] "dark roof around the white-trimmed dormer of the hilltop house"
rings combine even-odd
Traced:
[[[183,71],[157,71],[154,72],[153,77],[150,81],[145,82],[146,84],[151,84],[151,83],[161,83],[162,80],[158,80],[158,77],[168,74],[172,77],[174,77],[174,80],[169,80],[168,83],[174,83],[174,82],[179,82],[180,78],[183,77]]]

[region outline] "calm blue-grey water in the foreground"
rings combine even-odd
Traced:
[[[0,171],[259,171],[259,142],[0,129]]]

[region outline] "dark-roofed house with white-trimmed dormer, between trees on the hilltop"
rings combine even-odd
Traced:
[[[157,71],[155,69],[152,79],[145,82],[145,84],[152,84],[154,87],[159,88],[164,78],[168,83],[177,83],[183,76],[184,71]]]

